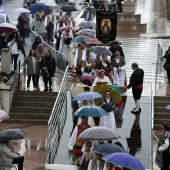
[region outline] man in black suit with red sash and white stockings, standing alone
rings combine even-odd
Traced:
[[[144,71],[138,67],[137,63],[132,63],[131,65],[133,73],[130,77],[129,85],[127,86],[128,89],[132,87],[133,98],[135,100],[136,108],[134,108],[131,113],[133,114],[140,114],[140,98],[143,91],[143,78],[144,78]]]

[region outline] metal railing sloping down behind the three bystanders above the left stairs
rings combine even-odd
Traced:
[[[32,48],[32,44],[35,41],[35,37],[39,36],[41,38],[41,43],[44,45],[44,49],[45,50],[50,50],[52,56],[55,58],[56,61],[56,65],[57,65],[57,70],[64,73],[66,70],[66,55],[57,51],[56,49],[54,49],[52,46],[48,45],[43,37],[39,34],[37,34],[35,31],[31,31],[31,43],[30,43],[30,49]]]

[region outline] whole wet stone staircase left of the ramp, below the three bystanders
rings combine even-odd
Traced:
[[[47,124],[57,92],[16,91],[7,123]]]

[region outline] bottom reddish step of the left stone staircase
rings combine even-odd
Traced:
[[[48,120],[44,119],[17,119],[17,118],[9,118],[3,121],[3,123],[18,123],[18,124],[34,124],[34,125],[47,125]]]

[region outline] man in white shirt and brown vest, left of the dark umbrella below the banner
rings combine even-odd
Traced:
[[[81,76],[81,66],[84,61],[86,61],[86,58],[89,56],[89,50],[86,48],[86,43],[81,42],[80,47],[76,49],[75,55],[74,55],[74,67],[76,68],[76,74]]]

